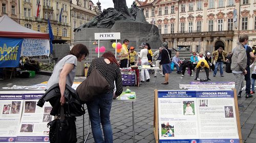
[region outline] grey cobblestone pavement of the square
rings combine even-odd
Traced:
[[[195,73],[193,73],[195,75]],[[204,78],[205,73],[200,72],[200,77]],[[13,83],[13,85],[33,85],[43,81],[47,81],[50,76],[46,75],[36,75],[34,78],[12,78],[0,81],[0,91],[3,90],[2,87],[6,87],[6,84]],[[154,115],[154,90],[179,90],[179,83],[189,84],[190,81],[194,80],[195,76],[190,77],[185,74],[181,79],[181,75],[172,73],[170,74],[169,84],[164,85],[161,82],[164,81],[164,77],[158,75],[157,77],[157,87],[155,87],[155,77],[151,74],[150,82],[144,82],[140,87],[124,87],[129,88],[136,92],[137,101],[134,102],[135,108],[135,139],[136,142],[155,142],[155,137],[153,133],[153,115]],[[234,76],[232,73],[224,73],[224,77],[220,76],[218,71],[216,77],[212,76],[210,72],[210,77],[212,81],[234,81]],[[75,81],[82,81],[83,79],[75,79]],[[9,90],[10,91],[10,90]],[[245,93],[243,92],[243,97],[238,99],[239,103],[242,103],[245,107],[240,108],[240,123],[242,130],[243,142],[255,143],[256,142],[256,111],[255,105],[256,100],[253,98],[245,98]],[[256,96],[256,95],[255,95]],[[113,138],[114,142],[133,142],[133,132],[132,132],[132,103],[131,102],[117,102],[114,101],[111,110],[111,123],[113,128]],[[87,135],[87,125],[88,125],[88,112],[84,115],[84,135]],[[83,132],[82,132],[82,117],[77,118],[77,137],[78,142],[83,142]],[[87,142],[94,142],[92,134],[89,135]]]

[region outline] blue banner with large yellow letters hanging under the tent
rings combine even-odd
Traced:
[[[18,67],[23,39],[0,37],[0,68]]]

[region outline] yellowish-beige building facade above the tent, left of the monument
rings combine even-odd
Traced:
[[[40,2],[40,3],[39,3]],[[37,17],[37,5],[39,14]],[[1,0],[0,16],[8,15],[20,25],[34,31],[48,33],[50,20],[55,40],[74,44],[75,27],[98,14],[89,0]],[[61,17],[60,17],[61,13]]]

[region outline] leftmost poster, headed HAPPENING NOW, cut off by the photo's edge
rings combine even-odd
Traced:
[[[16,95],[14,95],[15,97]],[[14,142],[22,116],[23,101],[8,100],[8,95],[1,94],[0,100],[0,142]],[[5,100],[4,100],[5,99]]]

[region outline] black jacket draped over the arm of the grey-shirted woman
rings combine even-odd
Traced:
[[[66,84],[66,89],[64,92],[64,97],[66,99],[66,103],[64,104],[65,108],[69,108],[70,116],[71,117],[78,117],[86,113],[83,106],[81,105],[80,99],[76,93],[76,91],[71,88],[68,84]],[[50,87],[44,96],[42,96],[39,101],[37,102],[37,106],[42,107],[44,106],[45,102],[50,102],[52,105],[52,110],[50,115],[56,116],[58,112],[58,108],[60,106],[60,90],[59,90],[59,83],[53,84]]]

